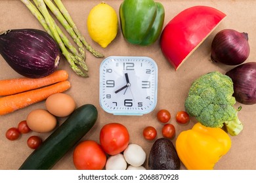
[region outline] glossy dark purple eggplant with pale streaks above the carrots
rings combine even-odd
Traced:
[[[12,29],[0,33],[0,54],[20,75],[41,78],[60,62],[60,49],[53,38],[39,29]]]

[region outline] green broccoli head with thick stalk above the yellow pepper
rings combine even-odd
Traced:
[[[186,112],[207,127],[226,127],[232,136],[238,135],[243,124],[234,108],[236,99],[233,82],[218,71],[207,73],[195,80],[185,101]]]

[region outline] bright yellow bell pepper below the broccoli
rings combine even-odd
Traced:
[[[231,139],[219,127],[205,127],[199,122],[177,137],[176,150],[187,169],[213,169],[231,148]]]

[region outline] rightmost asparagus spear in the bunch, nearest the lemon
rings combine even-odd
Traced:
[[[80,33],[79,29],[77,28],[77,26],[75,25],[74,21],[72,20],[70,14],[68,13],[68,10],[66,9],[66,7],[64,7],[64,5],[62,4],[61,0],[54,0],[54,2],[56,3],[57,7],[60,9],[60,12],[62,12],[63,16],[66,18],[66,21],[68,22],[68,24],[70,24],[70,26],[74,29],[75,33],[77,34],[77,37],[79,37],[79,39],[81,40],[81,42],[83,42],[83,44],[85,45],[85,48],[91,52],[96,58],[102,58],[104,57],[103,54],[101,54],[100,52],[97,52],[94,48],[91,47],[91,45],[85,40],[85,38],[83,37],[83,35]]]

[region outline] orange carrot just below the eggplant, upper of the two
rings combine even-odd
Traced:
[[[54,71],[49,76],[43,78],[13,78],[7,80],[0,80],[0,96],[12,95],[43,86],[48,86],[56,82],[68,79],[68,73],[64,70]]]

